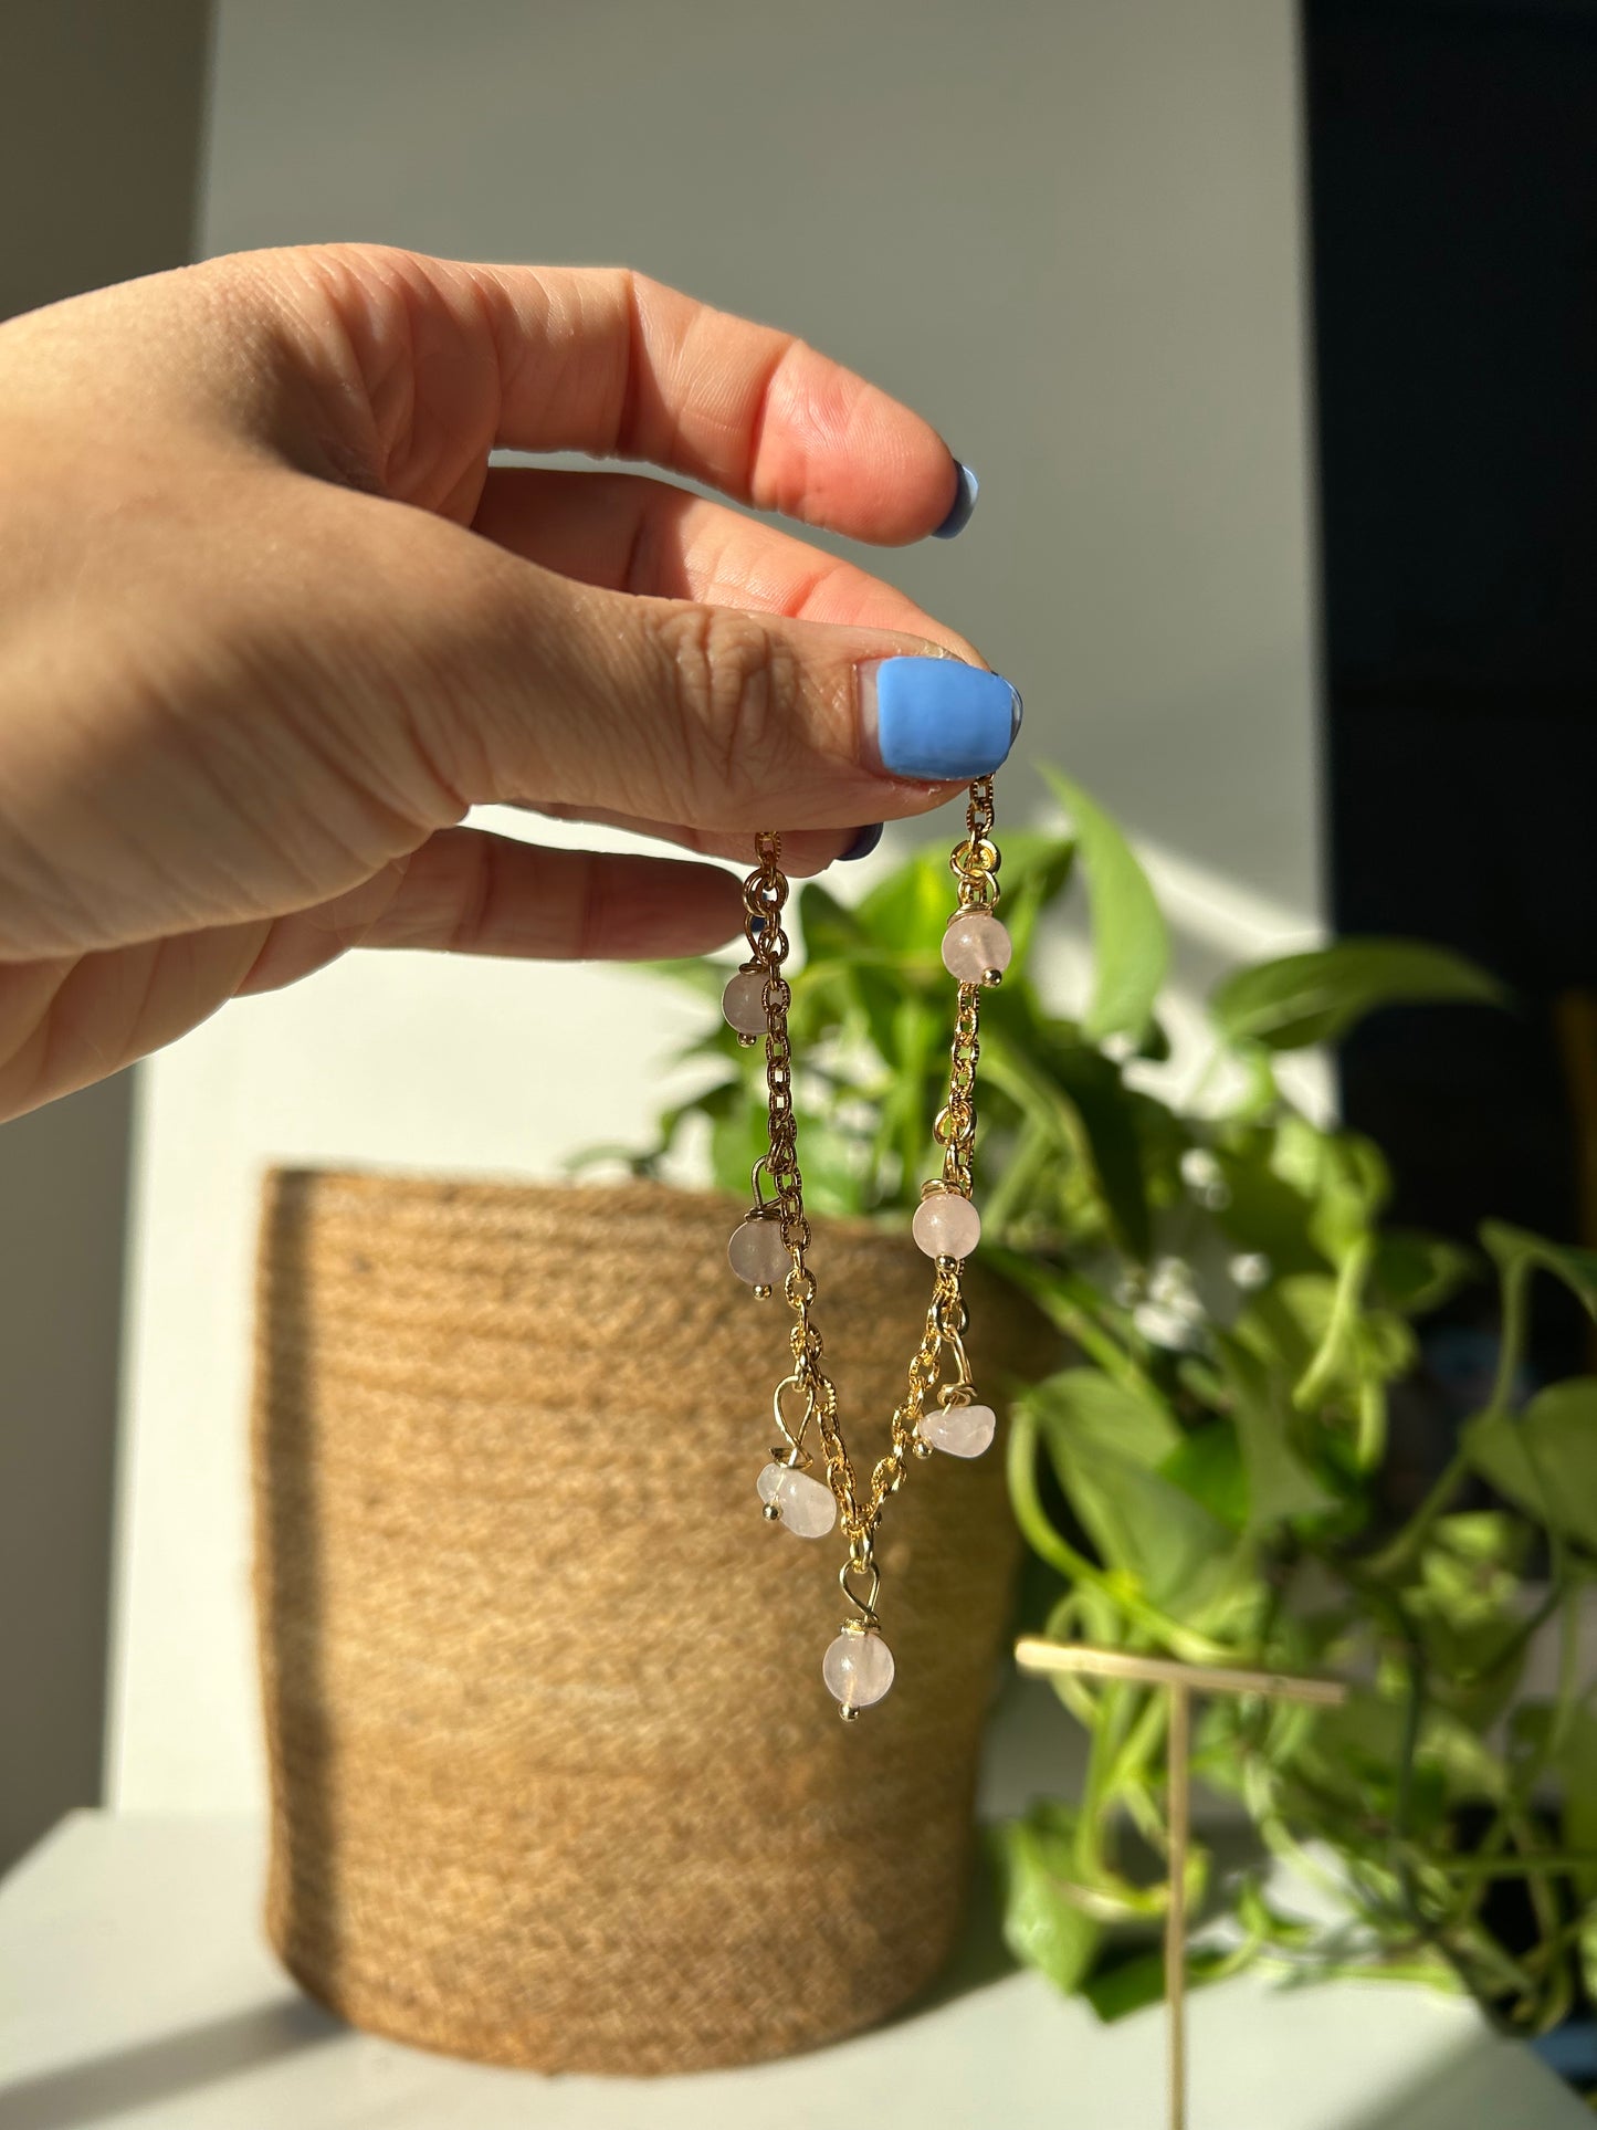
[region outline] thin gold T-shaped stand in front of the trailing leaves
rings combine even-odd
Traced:
[[[1088,1642],[1050,1642],[1028,1634],[1016,1642],[1022,1672],[1086,1672],[1092,1678],[1133,1678],[1169,1691],[1169,1900],[1165,1904],[1165,2013],[1169,2032],[1169,2130],[1186,2130],[1186,1847],[1192,1762],[1192,1695],[1258,1693],[1271,1702],[1337,1708],[1348,1689],[1335,1678],[1286,1678],[1280,1672],[1239,1672],[1222,1666],[1175,1664],[1139,1657],[1126,1649]]]

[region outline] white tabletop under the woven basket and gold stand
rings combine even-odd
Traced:
[[[349,2032],[258,1930],[249,1821],[72,1815],[0,1889],[0,2130],[1152,2130],[1160,2015],[1101,2028],[1031,1975],[750,2070],[490,2070]],[[1401,1987],[1192,2000],[1192,2130],[1578,2130],[1465,2006]]]

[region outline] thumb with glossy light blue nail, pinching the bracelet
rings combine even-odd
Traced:
[[[969,645],[637,599],[439,530],[479,564],[439,620],[456,643],[443,743],[473,799],[847,829],[941,805],[1020,728],[1020,694]]]

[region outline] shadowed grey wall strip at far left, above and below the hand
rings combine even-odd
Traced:
[[[194,256],[209,34],[209,0],[0,4],[0,317]],[[130,1105],[0,1133],[0,1870],[100,1798]]]

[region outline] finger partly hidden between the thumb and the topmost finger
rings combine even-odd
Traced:
[[[879,577],[758,518],[630,473],[496,466],[473,530],[607,592],[690,599],[845,628],[894,628],[975,660],[965,637]]]

